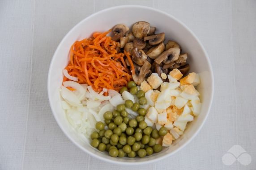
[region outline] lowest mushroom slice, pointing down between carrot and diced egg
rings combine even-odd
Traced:
[[[132,79],[137,85],[140,85],[141,82],[144,81],[146,76],[149,76],[149,74],[151,73],[150,71],[151,64],[148,61],[146,61],[144,62],[142,67],[139,68],[139,66],[136,66],[136,65],[134,67],[135,67],[135,74],[132,75]]]

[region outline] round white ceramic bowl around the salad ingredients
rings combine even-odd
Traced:
[[[166,40],[177,41],[183,52],[188,52],[190,72],[194,71],[201,75],[201,84],[197,89],[201,93],[202,109],[201,114],[187,126],[184,135],[179,137],[171,147],[163,149],[162,152],[145,158],[112,158],[107,153],[92,148],[88,141],[82,141],[68,124],[60,106],[59,88],[63,79],[62,70],[68,63],[69,48],[74,41],[90,37],[95,31],[106,31],[119,23],[131,27],[137,21],[149,22],[150,25],[157,28],[158,33],[165,33]],[[48,95],[52,113],[60,129],[80,149],[107,162],[122,165],[145,164],[173,155],[187,145],[199,132],[207,118],[213,99],[213,71],[204,47],[195,34],[179,20],[154,8],[134,5],[117,6],[96,12],[85,18],[63,38],[51,60],[48,74]]]

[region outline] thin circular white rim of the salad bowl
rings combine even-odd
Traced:
[[[207,112],[206,112],[206,115],[205,115],[205,118],[203,119],[202,123],[200,124],[199,128],[196,130],[196,132],[192,135],[192,137],[190,139],[188,139],[187,141],[185,141],[178,149],[174,150],[173,152],[171,153],[168,153],[162,157],[159,157],[159,158],[155,158],[153,160],[146,160],[146,161],[141,161],[141,162],[119,162],[119,161],[114,161],[114,160],[111,160],[111,159],[108,159],[108,158],[104,158],[104,157],[100,157],[98,156],[97,154],[95,153],[92,153],[90,151],[88,151],[87,149],[85,149],[84,147],[82,147],[81,145],[79,145],[75,140],[73,140],[73,138],[71,138],[68,133],[65,132],[64,128],[62,127],[62,125],[60,124],[60,121],[58,120],[57,116],[56,116],[56,113],[55,111],[52,109],[53,106],[52,106],[52,100],[50,98],[50,84],[49,84],[49,80],[50,80],[50,75],[51,75],[51,70],[52,70],[52,67],[53,67],[53,60],[55,59],[55,55],[57,53],[57,51],[59,50],[61,44],[63,44],[64,42],[64,39],[66,37],[68,37],[68,35],[73,32],[74,29],[76,29],[78,26],[81,25],[81,23],[83,23],[84,21],[88,20],[89,18],[91,17],[94,17],[95,15],[98,15],[102,12],[107,12],[107,11],[111,11],[113,9],[117,9],[117,8],[144,8],[144,9],[149,9],[149,10],[153,10],[155,12],[158,12],[158,13],[161,13],[163,15],[166,15],[167,17],[171,17],[173,20],[175,20],[176,22],[178,22],[180,25],[182,25],[185,29],[188,30],[189,33],[191,33],[192,37],[194,37],[196,39],[196,41],[198,42],[198,44],[200,45],[201,49],[203,50],[203,53],[205,54],[205,58],[206,58],[206,61],[209,65],[209,70],[210,70],[210,75],[211,75],[211,80],[212,80],[212,88],[210,89],[210,101],[209,101],[209,107],[207,109]],[[48,93],[48,99],[49,99],[49,103],[50,103],[50,107],[51,107],[51,112],[57,122],[57,124],[59,125],[60,129],[62,130],[62,132],[66,135],[66,137],[68,137],[68,139],[70,141],[73,142],[73,144],[75,144],[78,148],[80,148],[81,150],[83,150],[85,153],[88,153],[90,156],[93,156],[94,158],[98,158],[102,161],[106,161],[108,163],[113,163],[113,164],[119,164],[119,165],[144,165],[144,164],[148,164],[148,163],[153,163],[153,162],[157,162],[157,161],[160,161],[164,158],[168,158],[172,155],[174,155],[175,153],[177,153],[178,151],[180,151],[181,149],[183,149],[186,145],[188,145],[188,143],[190,143],[194,137],[196,137],[196,135],[199,133],[199,131],[201,130],[201,128],[203,127],[203,125],[205,124],[205,121],[209,115],[209,112],[210,112],[210,109],[211,109],[211,106],[212,106],[212,102],[213,102],[213,94],[214,94],[214,77],[213,77],[213,69],[212,69],[212,65],[211,65],[211,62],[210,62],[210,59],[209,59],[209,56],[204,48],[204,46],[202,45],[201,41],[199,41],[199,39],[196,37],[196,35],[185,25],[183,24],[183,22],[179,21],[177,18],[173,17],[172,15],[166,13],[166,12],[163,12],[159,9],[156,9],[156,8],[152,8],[152,7],[147,7],[147,6],[142,6],[142,5],[119,5],[119,6],[115,6],[115,7],[110,7],[110,8],[105,8],[105,9],[102,9],[98,12],[94,12],[93,14],[91,14],[90,16],[88,17],[85,17],[83,20],[81,20],[80,22],[78,22],[72,29],[70,29],[68,31],[68,33],[62,38],[62,40],[60,41],[59,45],[57,46],[56,50],[55,50],[55,53],[53,54],[53,57],[51,58],[51,63],[50,63],[50,67],[49,67],[49,71],[48,71],[48,77],[47,77],[47,93]]]

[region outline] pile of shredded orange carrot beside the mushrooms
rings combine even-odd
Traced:
[[[92,38],[74,42],[70,48],[68,66],[65,67],[69,75],[78,78],[78,83],[86,83],[95,91],[102,91],[103,88],[119,91],[127,86],[132,79],[131,73],[134,73],[130,54],[126,51],[117,53],[115,48],[120,45],[107,36],[110,32],[95,32]],[[132,71],[127,68],[125,57]],[[64,81],[68,81],[68,78],[64,77]],[[68,89],[76,90],[72,87]]]

